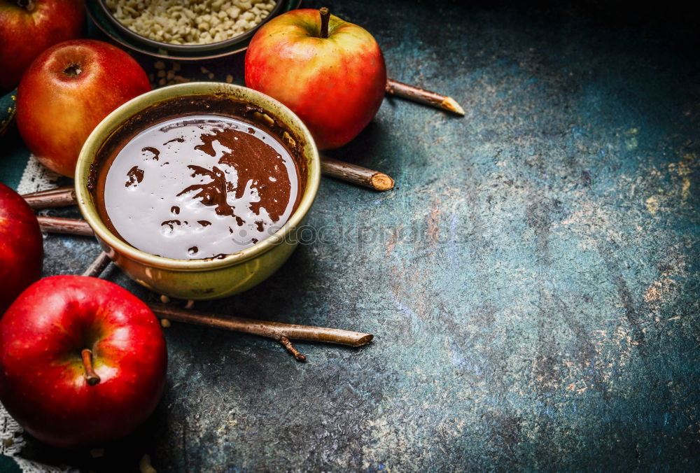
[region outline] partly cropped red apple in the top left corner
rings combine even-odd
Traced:
[[[80,38],[84,22],[80,0],[0,0],[0,89],[15,87],[49,46]]]

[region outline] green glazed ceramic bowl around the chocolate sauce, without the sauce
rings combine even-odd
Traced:
[[[173,260],[144,253],[118,239],[99,218],[92,192],[87,187],[90,166],[103,143],[134,115],[161,101],[178,97],[224,94],[232,101],[262,108],[297,139],[306,160],[307,179],[302,198],[287,223],[275,234],[255,245],[221,259]],[[203,111],[206,113],[206,111]],[[76,196],[83,218],[113,262],[130,278],[146,288],[181,299],[216,299],[252,288],[269,277],[287,260],[297,246],[296,232],[311,208],[321,171],[314,139],[302,121],[265,94],[226,83],[185,83],[147,92],[123,104],[95,127],[83,145],[76,166]]]

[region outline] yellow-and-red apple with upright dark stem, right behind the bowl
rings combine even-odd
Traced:
[[[330,15],[322,38],[318,10],[292,10],[269,20],[246,52],[246,85],[299,115],[318,148],[344,145],[372,120],[386,87],[377,41]]]

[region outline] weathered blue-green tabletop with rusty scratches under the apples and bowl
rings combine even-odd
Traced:
[[[258,288],[199,308],[375,341],[298,344],[300,364],[265,339],[174,324],[144,428],[104,458],[37,442],[25,455],[125,471],[148,453],[159,472],[696,468],[692,48],[585,9],[332,7],[377,36],[391,77],[467,115],[387,100],[334,155],[395,190],[324,179],[309,244]],[[207,67],[240,80],[240,60]],[[98,251],[58,236],[46,249],[46,274]]]

